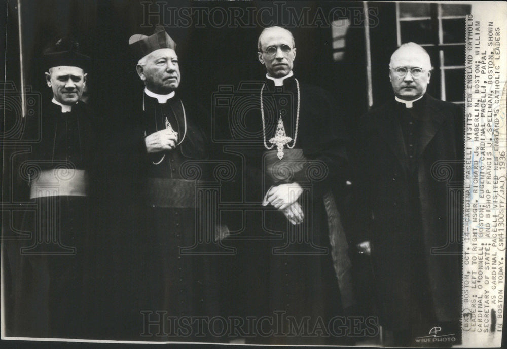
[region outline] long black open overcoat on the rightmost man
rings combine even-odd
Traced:
[[[398,109],[403,104],[393,99],[364,115],[354,141],[358,172],[351,240],[372,242],[381,322],[395,328],[413,316],[409,295],[418,292],[410,281],[409,259],[425,265],[421,280],[436,319],[457,321],[460,314],[463,113],[458,105],[429,95],[421,103],[415,204],[407,190],[411,177]],[[417,256],[409,246],[415,234],[421,242]]]

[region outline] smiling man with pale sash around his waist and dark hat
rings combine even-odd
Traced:
[[[52,42],[40,59],[52,92],[41,114],[24,117],[23,137],[36,140],[19,164],[27,210],[20,240],[10,254],[12,335],[80,338],[86,335],[84,304],[90,229],[90,168],[96,144],[92,115],[81,101],[90,57],[69,38]],[[12,258],[11,258],[12,257]]]

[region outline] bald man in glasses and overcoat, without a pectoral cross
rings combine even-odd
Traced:
[[[393,98],[360,119],[353,147],[351,236],[371,256],[384,345],[459,332],[463,112],[427,94],[430,77],[421,46],[394,51]]]

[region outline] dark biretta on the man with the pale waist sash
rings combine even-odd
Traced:
[[[62,37],[44,49],[42,63],[43,68],[46,70],[65,65],[88,71],[90,57],[79,52],[79,43],[77,41]]]

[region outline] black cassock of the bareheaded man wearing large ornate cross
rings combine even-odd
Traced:
[[[244,134],[256,144],[244,150],[245,180],[249,183],[246,200],[258,206],[245,215],[245,234],[251,238],[232,243],[238,247],[238,261],[242,262],[237,274],[243,278],[242,287],[231,288],[235,293],[231,297],[237,301],[231,312],[274,317],[274,323],[264,328],[269,338],[258,335],[252,340],[260,343],[305,343],[304,334],[291,330],[286,319],[281,320],[281,326],[276,324],[275,312],[280,314],[278,319],[293,317],[298,324],[310,317],[306,327],[311,332],[317,321],[327,326],[332,317],[343,315],[343,308],[353,304],[347,242],[329,190],[333,181],[344,181],[346,132],[328,95],[320,88],[299,85],[299,122],[294,77],[285,79],[281,87],[266,79],[263,89],[266,144],[272,146],[269,139],[275,136],[280,115],[286,136],[292,138],[288,146],[292,147],[297,137],[294,148],[284,146],[281,160],[276,145],[268,150],[263,144],[261,113],[242,118],[247,130]],[[256,96],[260,107],[260,95]],[[298,203],[305,217],[296,226],[270,204],[261,205],[271,186],[293,182],[304,189]],[[308,343],[342,339],[312,337]]]

